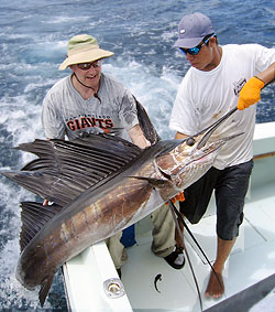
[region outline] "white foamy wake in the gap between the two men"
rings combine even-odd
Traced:
[[[163,67],[161,76],[153,75],[152,67],[143,66],[135,61],[125,62],[119,58],[116,66],[103,65],[103,72],[123,83],[145,107],[158,135],[163,139],[172,138],[168,128],[172,104],[179,84],[173,72]],[[131,72],[131,75],[129,75]]]

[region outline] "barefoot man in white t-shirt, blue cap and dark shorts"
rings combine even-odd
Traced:
[[[215,190],[218,248],[213,268],[219,280],[211,273],[205,294],[220,298],[224,292],[223,266],[239,235],[253,166],[256,107],[251,105],[260,100],[261,89],[274,79],[275,49],[258,44],[220,46],[210,19],[198,12],[182,19],[174,46],[180,49],[191,65],[170,116],[175,138],[197,133],[237,106],[239,110],[211,139],[244,132],[222,148],[213,166],[185,190],[186,201],[179,203],[183,215],[198,223]]]

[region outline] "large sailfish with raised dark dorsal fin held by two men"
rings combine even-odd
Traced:
[[[37,158],[20,171],[1,171],[53,205],[21,203],[21,255],[16,279],[29,290],[41,286],[43,306],[53,278],[66,261],[151,214],[201,177],[227,141],[209,142],[229,112],[184,140],[161,140],[136,101],[151,147],[110,135],[66,140],[34,140],[16,149]]]

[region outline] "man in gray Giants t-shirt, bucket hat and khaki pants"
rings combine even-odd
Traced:
[[[59,69],[69,67],[73,74],[57,82],[43,101],[42,123],[48,139],[73,140],[82,132],[106,132],[131,140],[142,149],[150,146],[139,125],[135,99],[122,84],[101,73],[102,58],[111,55],[90,35],[69,40],[68,56]],[[185,259],[182,249],[175,249],[175,226],[169,211],[164,206],[158,208],[152,220],[153,252],[172,267],[183,268]],[[127,260],[120,238],[121,233],[107,239],[117,269]]]

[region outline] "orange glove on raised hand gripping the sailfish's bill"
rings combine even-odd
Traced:
[[[240,92],[238,109],[243,110],[261,99],[261,90],[264,82],[257,77],[252,77]]]

